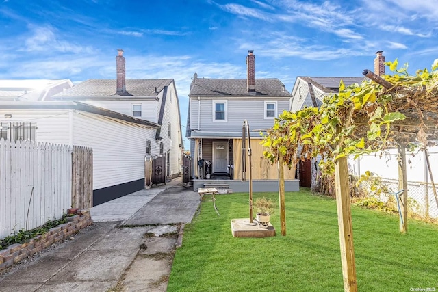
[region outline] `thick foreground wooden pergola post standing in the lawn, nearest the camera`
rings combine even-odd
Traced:
[[[346,157],[340,157],[335,162],[335,188],[344,291],[357,292],[355,246],[353,244],[350,187],[348,184]]]

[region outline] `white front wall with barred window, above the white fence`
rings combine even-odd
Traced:
[[[12,118],[0,118],[0,122],[35,123],[36,142],[70,144],[70,119],[73,109],[7,109]]]

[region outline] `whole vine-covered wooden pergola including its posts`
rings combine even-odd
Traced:
[[[428,70],[409,76],[407,65],[387,62],[394,75],[385,79],[365,70],[370,80],[345,87],[326,96],[321,107],[283,112],[263,140],[268,148],[263,155],[279,163],[281,227],[285,235],[283,163],[295,165],[299,159],[321,155],[325,174],[335,173],[339,242],[344,291],[357,291],[355,252],[352,234],[347,157],[383,150],[398,145],[399,187],[402,186],[400,231],[407,232],[407,184],[404,145],[415,139],[424,148],[428,139],[438,137],[438,59]],[[298,157],[298,150],[300,157]],[[398,196],[398,195],[397,195]],[[438,198],[435,196],[438,204]]]

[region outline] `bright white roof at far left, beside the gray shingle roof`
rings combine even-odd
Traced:
[[[73,87],[69,79],[0,80],[0,101],[49,101],[51,96]]]

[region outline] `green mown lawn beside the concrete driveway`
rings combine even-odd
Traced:
[[[268,196],[278,202],[278,194]],[[343,291],[336,203],[307,189],[286,194],[287,235],[277,211],[275,237],[235,238],[231,219],[249,217],[248,194],[206,199],[175,254],[168,291]],[[438,226],[352,207],[359,291],[438,291]]]

